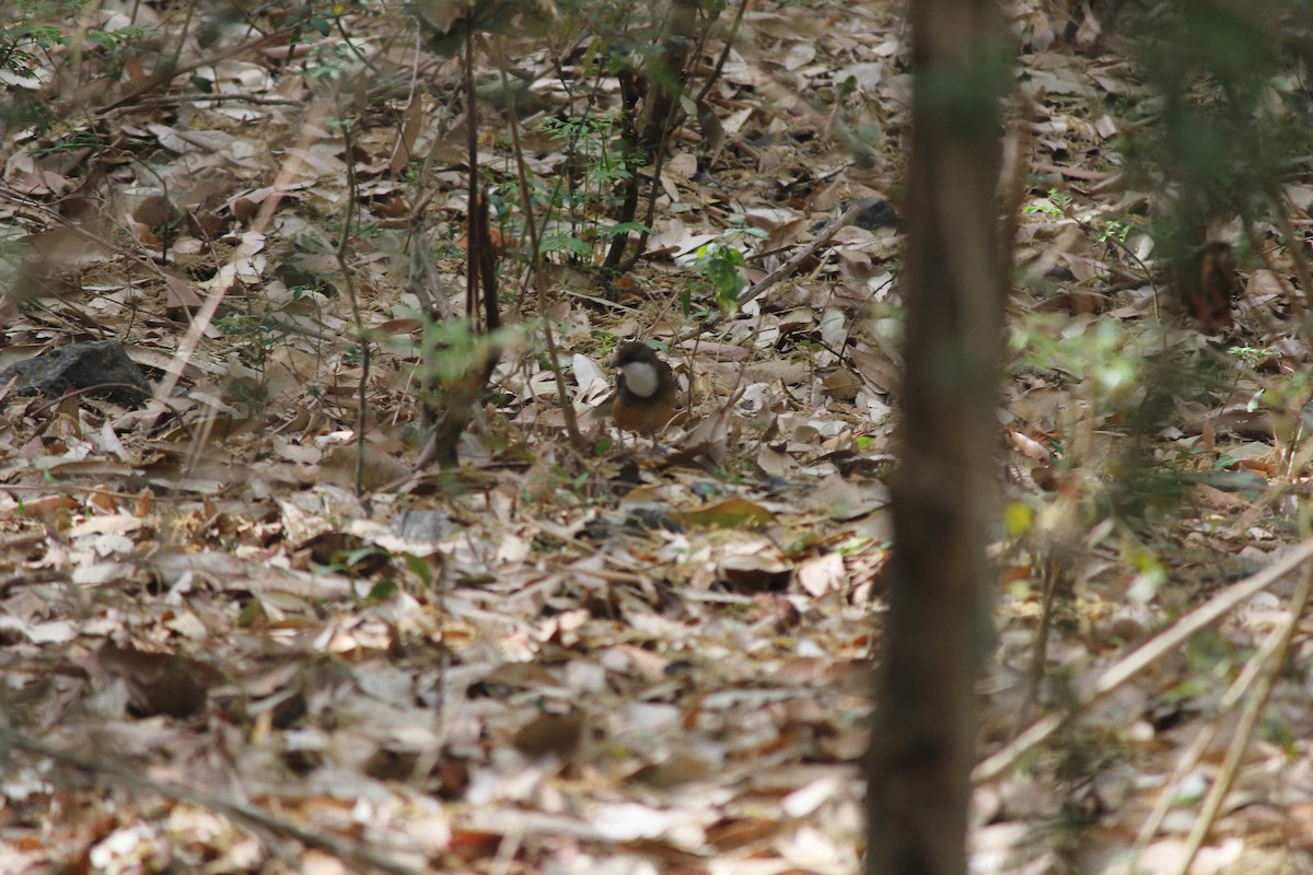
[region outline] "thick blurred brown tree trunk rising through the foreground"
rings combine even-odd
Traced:
[[[868,875],[966,871],[973,685],[989,640],[1002,312],[993,0],[910,4],[915,87],[894,555],[868,760]]]

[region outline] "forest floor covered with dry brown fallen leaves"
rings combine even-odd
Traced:
[[[1027,186],[972,871],[1174,872],[1199,830],[1191,871],[1313,872],[1299,265],[1260,226],[1224,337],[1173,307],[1155,193],[1120,176],[1150,94],[1052,5],[1010,7]],[[563,12],[481,45],[507,328],[454,474],[415,470],[410,252],[463,312],[461,64],[365,8],[295,41],[185,4],[5,31],[30,64],[0,122],[0,369],[117,338],[158,397],[0,387],[0,871],[857,871],[897,218],[696,329],[709,244],[758,282],[846,205],[901,209],[902,4],[754,4],[611,279],[616,81]],[[511,106],[559,207],[544,300]],[[634,337],[680,380],[668,454],[587,416]]]

